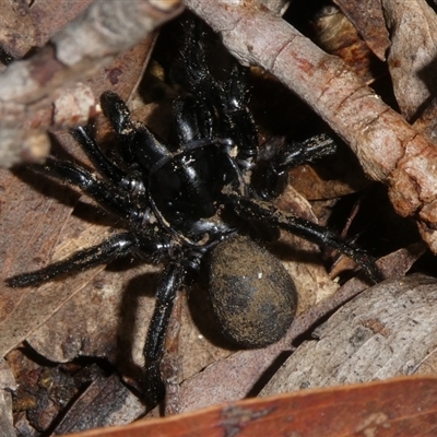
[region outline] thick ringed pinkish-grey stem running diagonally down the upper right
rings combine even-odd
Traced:
[[[389,187],[399,214],[414,216],[437,252],[437,150],[387,106],[345,63],[281,17],[235,1],[186,0],[246,64],[261,66],[310,105]]]

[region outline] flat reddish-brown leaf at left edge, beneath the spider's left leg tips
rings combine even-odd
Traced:
[[[23,172],[20,174],[25,175]],[[31,185],[12,174],[2,170],[0,175],[3,187],[0,229],[4,236],[0,253],[2,261],[0,349],[4,355],[24,339],[24,331],[29,332],[26,323],[35,310],[35,303],[27,307],[23,302],[32,299],[32,294],[25,290],[8,288],[4,280],[20,272],[40,268],[49,260],[76,196],[69,190],[62,194],[63,202],[59,202],[56,201],[56,188],[54,189],[47,180],[39,185],[40,193],[35,193]],[[26,175],[26,180],[33,181],[29,176]],[[59,190],[57,193],[59,194]],[[23,305],[29,312],[16,317],[19,308],[23,308]],[[36,304],[36,308],[40,306],[42,303]],[[14,324],[15,317],[21,328]]]

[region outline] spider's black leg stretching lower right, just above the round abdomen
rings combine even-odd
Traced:
[[[383,276],[373,257],[366,253],[363,249],[344,241],[332,231],[309,222],[308,220],[290,215],[275,209],[270,203],[260,200],[244,198],[235,192],[225,193],[225,196],[231,200],[235,212],[240,217],[249,221],[262,221],[298,235],[299,237],[304,237],[317,245],[329,246],[338,249],[357,262],[373,282],[378,283],[383,280]]]

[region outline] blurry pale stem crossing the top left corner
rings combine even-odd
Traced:
[[[36,110],[50,110],[56,93],[134,46],[182,9],[180,0],[95,1],[34,57],[0,76],[0,165],[37,161],[48,152],[48,126],[32,126]],[[90,108],[92,109],[92,108]]]

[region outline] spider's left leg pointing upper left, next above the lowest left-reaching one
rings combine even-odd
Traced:
[[[33,165],[32,168],[79,187],[105,210],[117,216],[128,221],[142,218],[142,212],[127,196],[122,196],[114,186],[96,178],[92,173],[74,163],[48,157],[45,164]]]

